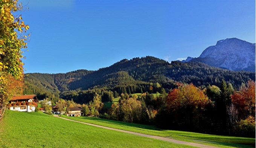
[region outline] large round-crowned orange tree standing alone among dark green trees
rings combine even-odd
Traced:
[[[193,84],[188,84],[169,92],[166,97],[166,108],[174,126],[199,127],[201,112],[210,102],[202,90]]]

